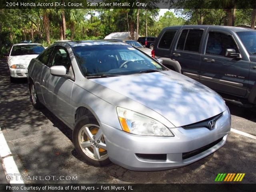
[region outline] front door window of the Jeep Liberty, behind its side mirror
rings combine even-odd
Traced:
[[[232,48],[238,52],[236,43],[230,35],[220,32],[209,32],[206,54],[225,56],[226,49]]]

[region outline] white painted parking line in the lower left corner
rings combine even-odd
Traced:
[[[20,172],[18,170],[18,167],[16,166],[16,163],[14,162],[14,159],[12,157],[12,152],[10,151],[10,148],[8,147],[8,144],[4,138],[4,134],[2,133],[1,127],[0,127],[0,157],[2,158],[2,166],[4,168],[5,174],[11,174],[14,176],[14,174],[20,175]],[[14,176],[13,178],[16,179]],[[24,184],[23,180],[20,179],[20,177],[17,177],[17,180],[9,180],[10,184]]]

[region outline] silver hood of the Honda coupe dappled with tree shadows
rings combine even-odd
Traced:
[[[90,80],[158,112],[176,127],[226,110],[216,92],[171,70]]]

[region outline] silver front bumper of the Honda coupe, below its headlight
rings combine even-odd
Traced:
[[[223,112],[212,130],[204,127],[171,128],[174,137],[139,136],[106,124],[102,124],[102,130],[108,156],[115,164],[136,171],[166,170],[196,162],[222,147],[230,132],[230,113],[228,110]],[[203,148],[205,146],[210,148]],[[165,155],[166,159],[141,158],[138,154],[160,157]],[[188,158],[184,158],[185,156]]]

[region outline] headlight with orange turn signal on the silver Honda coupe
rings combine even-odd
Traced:
[[[125,132],[147,136],[174,136],[166,126],[150,117],[121,107],[117,107],[116,111]]]

